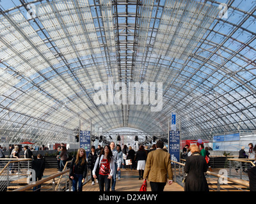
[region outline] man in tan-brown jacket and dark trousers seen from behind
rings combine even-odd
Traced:
[[[163,149],[164,143],[158,141],[156,143],[157,149],[149,152],[147,157],[147,163],[143,174],[143,179],[150,181],[150,187],[152,191],[163,191],[167,182],[172,184],[172,164],[170,154]]]

